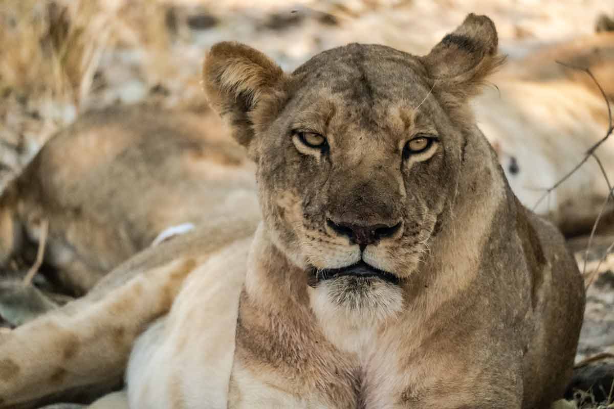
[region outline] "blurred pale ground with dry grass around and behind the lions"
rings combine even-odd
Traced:
[[[469,12],[495,21],[500,49],[513,61],[607,26],[612,21],[600,16],[613,15],[614,3],[2,1],[0,193],[45,140],[87,110],[136,102],[203,109],[201,59],[220,40],[245,42],[292,69],[314,53],[348,42],[426,53]],[[588,285],[577,361],[614,354],[614,235],[597,235],[589,251],[588,237],[576,237],[569,245]]]

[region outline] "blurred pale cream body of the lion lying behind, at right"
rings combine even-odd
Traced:
[[[565,235],[588,234],[608,193],[593,159],[537,203],[608,128],[607,105],[591,77],[557,61],[590,69],[612,101],[614,33],[604,32],[510,61],[491,78],[497,88],[486,88],[473,105],[520,201],[549,216]],[[596,154],[612,174],[614,143],[604,143]],[[608,212],[613,210],[610,205]]]

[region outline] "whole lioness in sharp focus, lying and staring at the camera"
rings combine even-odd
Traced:
[[[112,383],[130,350],[130,408],[548,405],[584,287],[475,126],[501,62],[473,14],[427,56],[351,44],[292,74],[215,45],[204,86],[257,163],[262,221],[144,251],[7,335],[0,406]]]

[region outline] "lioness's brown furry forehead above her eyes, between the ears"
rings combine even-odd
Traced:
[[[292,128],[393,139],[403,139],[410,128],[435,131],[426,113],[429,104],[417,110],[432,84],[410,54],[383,45],[349,44],[314,56],[293,75],[300,82],[286,111],[293,117]]]

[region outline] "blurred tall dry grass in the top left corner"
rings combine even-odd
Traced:
[[[150,69],[170,62],[162,8],[154,1],[0,2],[0,192],[56,129],[96,105],[106,53],[139,48],[157,61],[144,64]]]

